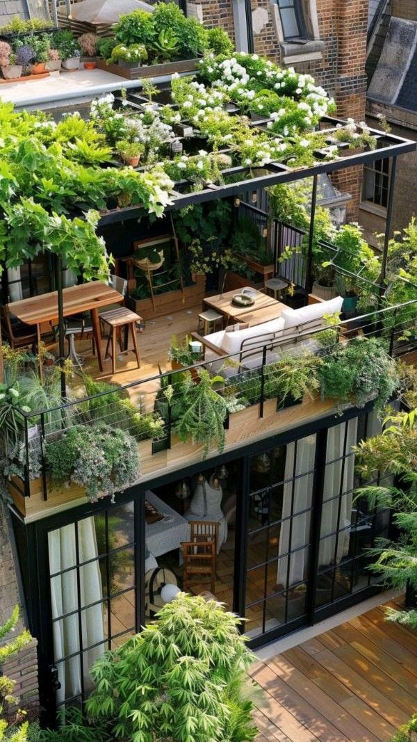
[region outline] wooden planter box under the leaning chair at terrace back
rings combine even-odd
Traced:
[[[180,289],[169,291],[165,294],[154,295],[155,311],[151,299],[134,299],[129,296],[127,299],[128,306],[134,312],[145,320],[151,320],[154,317],[163,317],[172,312],[179,312],[180,309],[191,309],[192,306],[200,304],[203,306],[204,293],[206,291],[206,276],[197,275],[193,286],[185,286],[184,303]]]

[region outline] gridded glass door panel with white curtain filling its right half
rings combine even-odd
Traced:
[[[306,623],[314,474],[315,435],[251,457],[245,615],[255,642]]]

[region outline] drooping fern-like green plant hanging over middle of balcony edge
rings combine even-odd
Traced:
[[[210,378],[209,372],[197,370],[200,381],[196,384],[189,372],[183,374],[180,384],[175,388],[172,400],[172,418],[174,432],[181,441],[191,440],[203,444],[203,457],[206,457],[214,446],[223,450],[225,432],[223,423],[226,419],[226,401],[214,391],[221,376]]]

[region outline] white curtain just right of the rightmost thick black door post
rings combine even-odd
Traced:
[[[347,556],[349,551],[355,456],[348,456],[348,454],[352,450],[352,446],[356,444],[357,436],[358,418],[335,425],[335,427],[329,428],[327,432],[324,505],[321,515],[321,538],[323,540],[320,542],[319,567],[338,564],[343,557]],[[346,458],[341,458],[344,455]],[[335,459],[338,459],[338,461],[335,461]],[[341,499],[339,498],[340,493]],[[339,531],[338,536],[335,534],[329,536],[329,538],[323,538],[338,529],[343,529]]]

